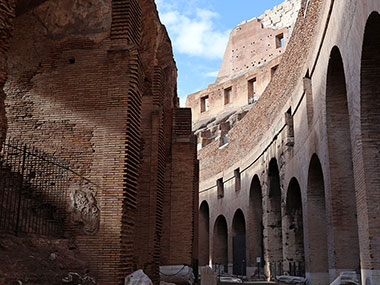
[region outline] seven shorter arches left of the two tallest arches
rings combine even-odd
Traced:
[[[232,273],[245,275],[246,267],[263,267],[265,263],[281,264],[289,271],[290,264],[305,263],[304,217],[301,188],[296,178],[290,180],[285,206],[281,205],[281,188],[275,158],[269,164],[269,191],[264,197],[261,182],[254,176],[250,187],[248,217],[237,209],[228,230],[225,216],[219,215],[210,227],[210,208],[206,201],[200,206],[199,264],[221,265],[227,272],[232,261]],[[309,166],[308,177],[308,236],[309,270],[328,272],[328,239],[325,190],[322,166],[316,154]],[[212,231],[212,248],[210,248]],[[229,241],[229,233],[231,241]],[[228,259],[228,246],[232,245],[232,260]],[[258,260],[261,263],[258,264]],[[263,271],[262,271],[263,272]]]

